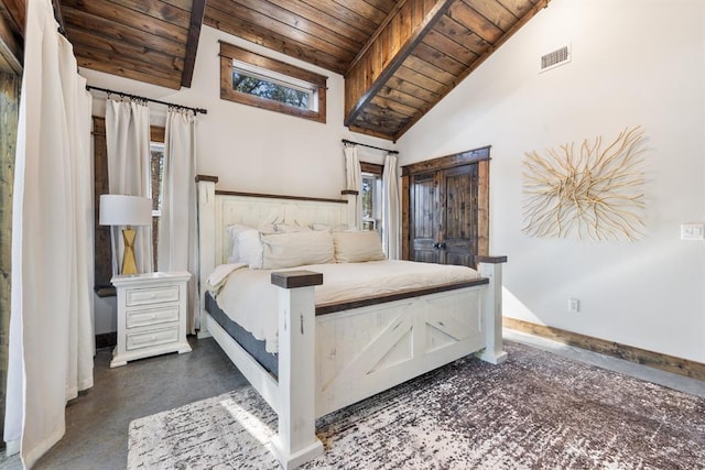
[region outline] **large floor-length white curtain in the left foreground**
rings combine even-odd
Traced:
[[[26,7],[4,438],[31,467],[93,386],[95,337],[90,96],[51,1]]]

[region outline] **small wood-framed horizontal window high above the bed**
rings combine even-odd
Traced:
[[[220,98],[326,122],[327,78],[220,43]]]

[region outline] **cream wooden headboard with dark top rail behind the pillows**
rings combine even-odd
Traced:
[[[273,222],[340,226],[350,225],[350,221],[355,220],[355,215],[350,214],[350,205],[346,199],[216,190],[218,178],[215,176],[199,175],[196,182],[198,183],[199,337],[207,336],[203,327],[206,280],[218,264],[227,263],[232,250],[232,242],[227,236],[228,226],[240,223],[257,228],[262,223]]]

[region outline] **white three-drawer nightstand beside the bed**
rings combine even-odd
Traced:
[[[186,284],[191,273],[112,276],[118,295],[118,346],[110,367],[166,352],[189,352]]]

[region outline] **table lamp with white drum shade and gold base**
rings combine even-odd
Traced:
[[[104,194],[100,196],[101,226],[124,226],[122,240],[124,253],[122,254],[122,270],[120,274],[137,274],[134,260],[134,236],[132,226],[149,226],[152,223],[152,199],[139,196],[123,196],[118,194]]]

